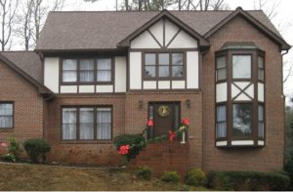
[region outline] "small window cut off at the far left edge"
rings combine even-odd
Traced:
[[[13,103],[0,103],[0,128],[13,128]]]

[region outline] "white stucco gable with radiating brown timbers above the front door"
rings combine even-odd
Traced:
[[[168,19],[160,19],[131,40],[130,48],[197,48],[197,40]]]

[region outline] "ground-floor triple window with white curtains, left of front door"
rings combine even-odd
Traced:
[[[63,107],[63,140],[110,140],[111,107]]]

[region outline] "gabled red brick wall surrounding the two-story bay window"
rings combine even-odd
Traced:
[[[209,41],[203,58],[203,169],[281,170],[284,159],[284,100],[282,98],[281,53],[278,46],[240,17],[232,19]],[[215,145],[215,61],[214,52],[227,41],[250,41],[266,52],[265,112],[266,147],[261,149],[217,149]]]

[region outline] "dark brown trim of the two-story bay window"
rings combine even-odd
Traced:
[[[251,78],[232,78],[232,56],[233,55],[251,55]],[[220,50],[215,53],[215,61],[217,57],[223,57],[226,56],[226,80],[219,80],[215,81],[216,85],[220,83],[227,83],[227,102],[219,102],[216,103],[216,107],[220,105],[225,105],[226,104],[226,119],[227,119],[227,137],[226,138],[216,138],[216,131],[215,131],[215,142],[217,141],[227,141],[228,145],[227,146],[215,146],[217,148],[237,148],[237,147],[265,147],[264,146],[259,146],[258,141],[264,141],[266,140],[266,114],[265,114],[265,103],[264,102],[259,102],[258,101],[258,91],[257,91],[257,84],[260,83],[265,83],[265,52],[259,49],[227,49],[227,50]],[[264,69],[264,81],[258,80],[258,57],[263,58],[263,69]],[[217,65],[215,62],[215,69],[217,69]],[[254,97],[251,98],[251,101],[233,101],[231,98],[231,84],[233,82],[248,82],[250,81],[254,85]],[[235,137],[232,136],[232,125],[233,125],[233,104],[245,104],[245,103],[250,103],[251,104],[251,134],[252,136],[250,137]],[[262,105],[264,107],[264,138],[258,137],[258,105]],[[215,117],[216,117],[216,108],[215,108]],[[216,121],[215,119],[215,126],[216,126]],[[216,127],[215,127],[216,130]],[[253,146],[231,146],[231,141],[232,140],[253,140],[254,145]]]

